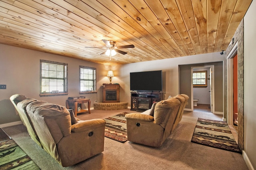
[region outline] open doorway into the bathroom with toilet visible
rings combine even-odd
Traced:
[[[206,71],[206,84],[207,86],[194,86],[193,85],[193,72]],[[204,111],[214,113],[214,65],[194,66],[191,67],[192,84],[192,110]],[[197,101],[197,102],[195,102]]]

